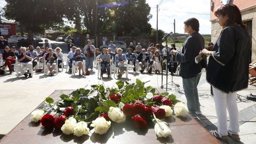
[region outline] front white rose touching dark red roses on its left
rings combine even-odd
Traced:
[[[74,133],[74,128],[76,127],[76,119],[73,118],[73,117],[70,117],[69,119],[67,119],[65,121],[65,124],[62,125],[61,127],[61,131],[64,133],[64,134],[72,134]]]

